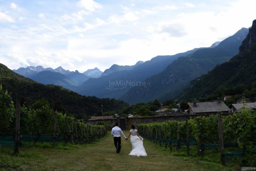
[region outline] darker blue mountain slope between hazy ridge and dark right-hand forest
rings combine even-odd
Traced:
[[[131,88],[120,99],[134,104],[176,97],[193,79],[236,55],[247,34],[248,29],[242,28],[215,48],[200,49],[192,55],[178,58],[161,73],[144,80],[150,82],[150,86]]]

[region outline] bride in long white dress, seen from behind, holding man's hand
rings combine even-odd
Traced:
[[[145,148],[143,146],[143,138],[141,138],[138,134],[138,130],[135,130],[135,126],[132,125],[132,129],[130,130],[130,134],[127,139],[131,136],[131,143],[133,146],[133,150],[129,155],[137,155],[137,156],[147,156]]]

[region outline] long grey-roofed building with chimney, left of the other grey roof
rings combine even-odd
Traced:
[[[223,102],[188,103],[185,112],[187,114],[209,114],[217,112],[229,113],[231,110]]]

